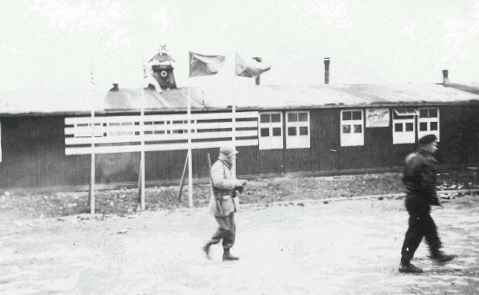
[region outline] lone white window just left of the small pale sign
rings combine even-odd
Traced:
[[[341,146],[358,145],[364,145],[363,111],[341,111]]]

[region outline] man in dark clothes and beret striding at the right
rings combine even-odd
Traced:
[[[406,209],[409,213],[409,228],[401,250],[400,272],[420,273],[422,269],[414,266],[411,259],[423,237],[429,246],[430,258],[439,263],[454,259],[455,255],[446,255],[441,251],[441,240],[432,219],[431,205],[440,206],[436,194],[437,137],[433,134],[418,140],[419,148],[409,154],[404,161],[402,181],[406,187]]]

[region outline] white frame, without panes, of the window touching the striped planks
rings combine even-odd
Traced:
[[[279,122],[271,122],[272,115],[279,114]],[[262,115],[269,115],[269,122],[261,122]],[[261,129],[268,128],[269,135],[261,136]],[[281,134],[273,136],[273,130],[279,128]],[[283,113],[282,112],[260,112],[258,113],[258,145],[260,150],[283,149]]]

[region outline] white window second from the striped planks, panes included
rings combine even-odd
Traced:
[[[286,148],[309,148],[309,112],[287,112],[286,130]]]

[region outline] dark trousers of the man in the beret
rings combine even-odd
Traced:
[[[407,195],[405,205],[409,213],[409,228],[406,231],[401,249],[401,263],[408,264],[411,261],[422,238],[426,239],[430,254],[432,256],[439,255],[442,247],[441,239],[437,233],[436,224],[431,217],[431,207],[426,198]]]

